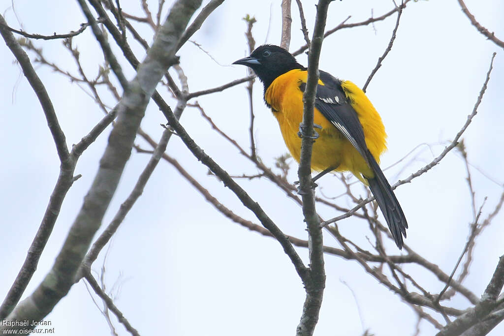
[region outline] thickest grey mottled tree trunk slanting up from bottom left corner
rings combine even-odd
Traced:
[[[173,5],[145,60],[139,65],[137,76],[128,84],[118,104],[118,117],[98,172],[52,269],[34,293],[17,305],[8,320],[41,320],[70,290],[130,157],[147,103],[168,69],[185,26],[199,6],[201,0],[178,0]],[[2,325],[0,330],[21,327]]]

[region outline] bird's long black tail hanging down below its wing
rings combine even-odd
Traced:
[[[389,181],[387,181],[382,169],[380,169],[380,166],[369,151],[367,151],[366,158],[370,168],[374,172],[374,178],[366,177],[369,183],[369,189],[371,189],[374,198],[376,198],[376,203],[378,203],[378,206],[385,216],[390,233],[392,233],[397,247],[402,249],[403,236],[406,238],[406,229],[408,228],[406,217],[404,216],[396,195],[394,195],[394,191],[392,191],[390,187]]]

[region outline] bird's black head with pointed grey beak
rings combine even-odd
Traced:
[[[293,69],[306,69],[287,50],[271,44],[258,47],[250,56],[238,59],[233,64],[246,65],[254,70],[263,82],[265,91],[278,76]]]

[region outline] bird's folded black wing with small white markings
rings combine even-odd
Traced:
[[[343,134],[355,149],[368,161],[368,149],[364,139],[364,131],[357,112],[348,101],[341,82],[330,74],[321,71],[320,80],[325,85],[317,85],[315,107]],[[304,92],[306,83],[301,83],[299,89]],[[370,154],[370,153],[369,153]],[[367,162],[369,165],[369,162]]]

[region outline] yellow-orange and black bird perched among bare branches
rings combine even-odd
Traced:
[[[264,101],[278,121],[285,145],[299,163],[303,130],[303,92],[307,69],[282,47],[264,44],[233,64],[248,66],[264,85]],[[408,223],[379,166],[387,149],[380,114],[354,83],[319,70],[314,104],[311,170],[349,171],[369,186],[389,230],[402,249]]]

